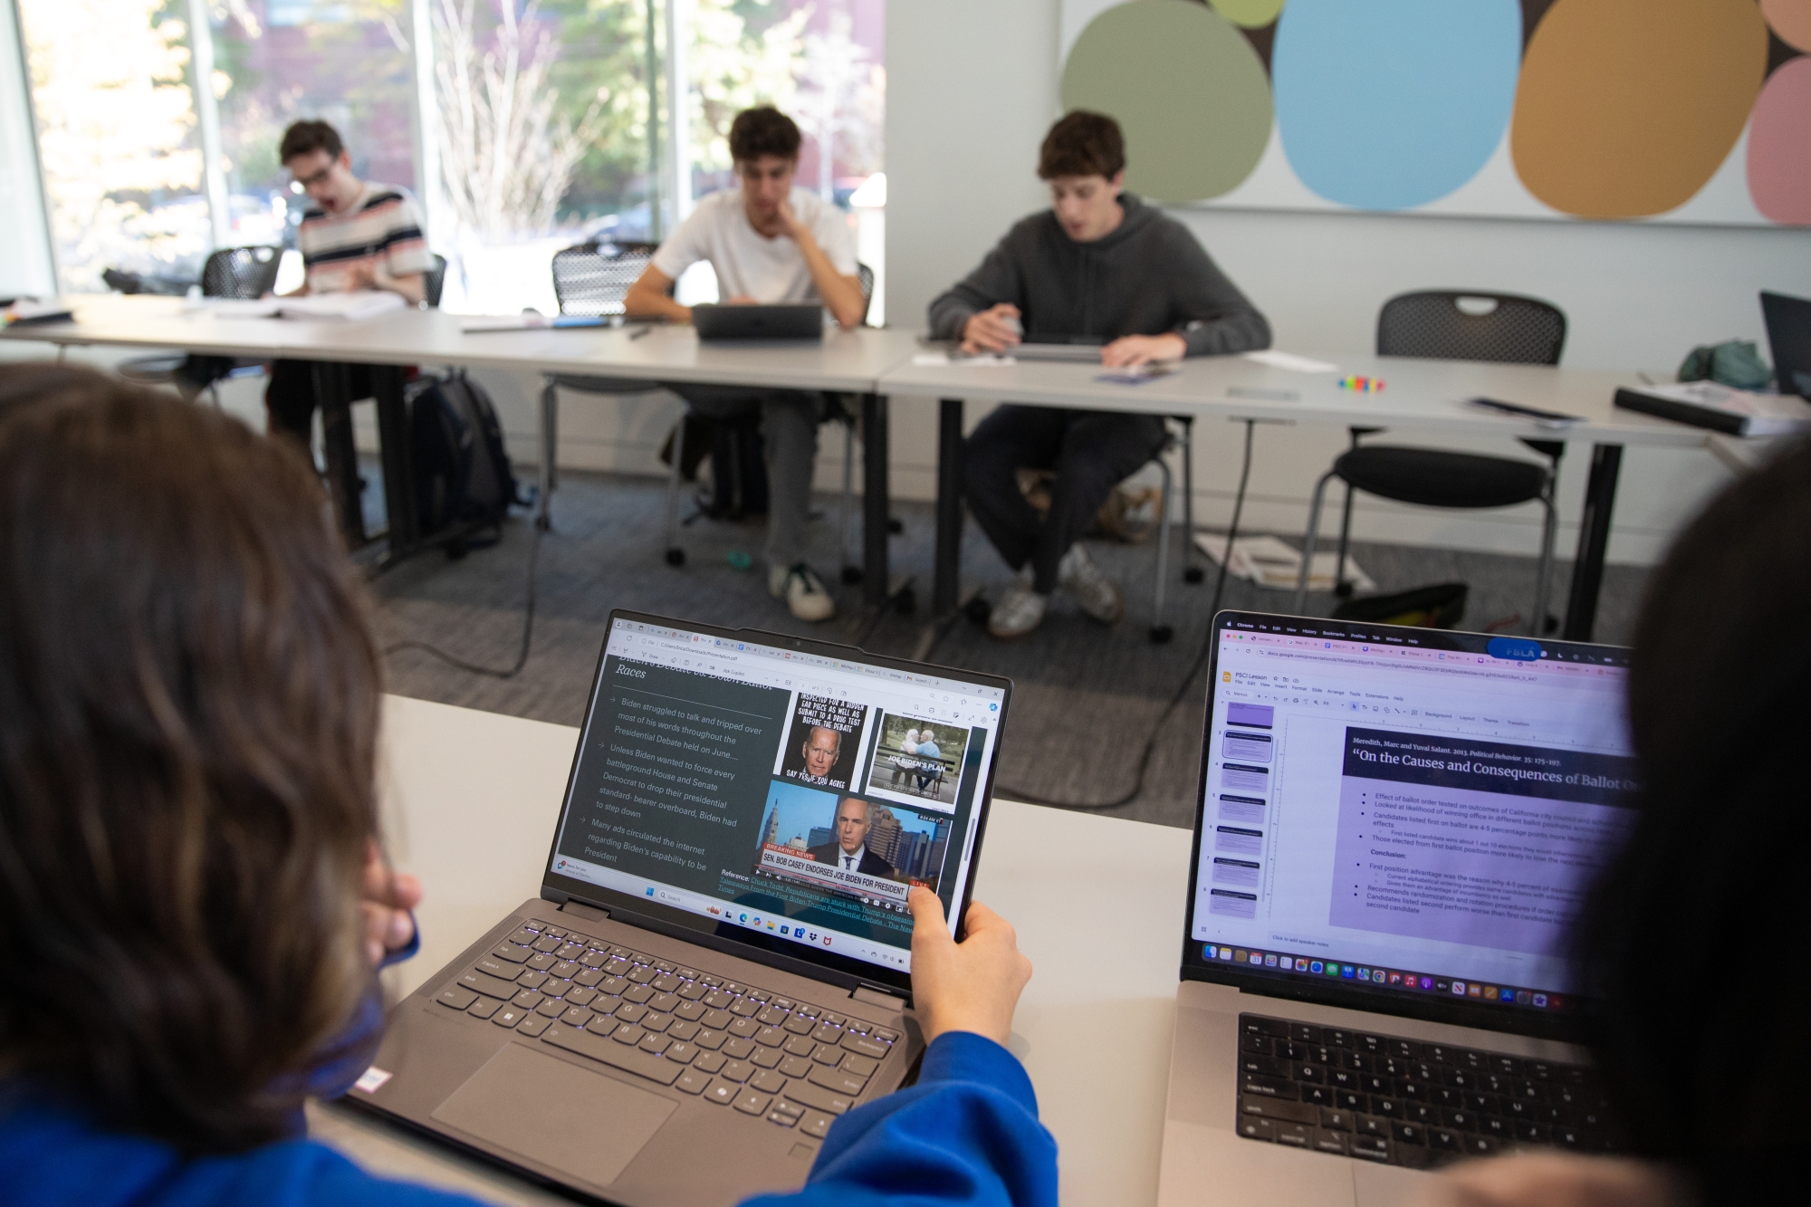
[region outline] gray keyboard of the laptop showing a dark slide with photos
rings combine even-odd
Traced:
[[[435,1000],[819,1140],[898,1040],[538,919]]]

